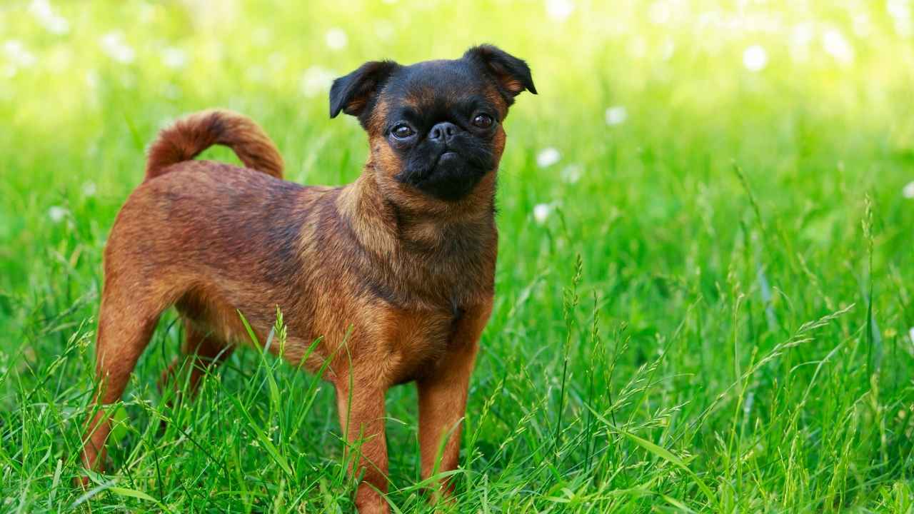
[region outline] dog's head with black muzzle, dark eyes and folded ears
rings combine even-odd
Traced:
[[[502,122],[523,91],[537,92],[526,62],[483,45],[461,59],[367,62],[334,80],[330,117],[358,118],[385,190],[456,202],[482,182],[494,187]]]

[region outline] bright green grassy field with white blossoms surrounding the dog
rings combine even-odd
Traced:
[[[367,147],[328,80],[480,42],[540,94],[505,123],[452,510],[914,510],[914,4],[306,4],[0,6],[0,511],[351,511],[327,384],[241,351],[165,405],[174,312],[110,475],[70,486],[101,252],[181,113],[249,114],[289,179],[344,184]],[[415,402],[388,394],[403,512],[431,510]]]

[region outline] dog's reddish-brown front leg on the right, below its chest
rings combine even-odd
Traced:
[[[467,309],[457,320],[439,368],[416,382],[419,388],[419,445],[423,480],[436,473],[452,471],[459,464],[460,435],[470,374],[479,349],[480,334],[491,313],[491,300]],[[442,478],[441,492],[449,495],[452,490],[450,477]]]

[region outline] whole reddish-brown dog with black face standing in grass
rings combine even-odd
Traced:
[[[411,66],[367,62],[330,91],[331,117],[357,116],[370,144],[361,177],[345,187],[283,181],[270,139],[235,113],[199,112],[165,129],[105,249],[97,402],[121,398],[167,307],[184,320],[196,388],[232,345],[250,341],[238,311],[264,341],[279,306],[282,357],[312,371],[329,361],[343,430],[364,441],[352,469],[364,473],[360,512],[388,511],[376,489],[388,488],[392,385],[419,388],[422,477],[456,468],[492,310],[502,122],[525,90],[536,92],[526,63],[491,46]],[[210,145],[231,147],[246,167],[191,160]],[[102,466],[108,415],[88,423],[90,468]]]

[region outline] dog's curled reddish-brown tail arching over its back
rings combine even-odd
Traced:
[[[189,161],[212,145],[225,145],[244,166],[282,178],[282,156],[260,125],[238,112],[194,112],[162,130],[149,147],[146,180],[168,173],[168,166]]]

